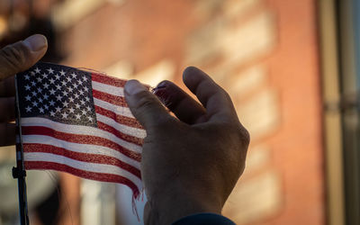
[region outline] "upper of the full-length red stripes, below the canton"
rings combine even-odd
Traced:
[[[58,130],[52,130],[47,127],[40,126],[23,126],[22,127],[23,135],[45,135],[53,137],[55,139],[62,139],[68,142],[78,143],[78,144],[89,144],[89,145],[98,145],[104,146],[107,148],[112,148],[124,154],[127,157],[130,157],[136,161],[141,160],[141,155],[137,152],[133,152],[127,148],[123,148],[121,145],[113,142],[110,139],[104,139],[102,137],[96,137],[91,135],[84,134],[74,134],[66,133]]]

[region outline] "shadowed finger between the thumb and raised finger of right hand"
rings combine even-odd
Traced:
[[[193,124],[206,120],[202,105],[174,83],[167,80],[159,83],[154,94],[180,121]]]

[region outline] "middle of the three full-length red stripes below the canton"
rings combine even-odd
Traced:
[[[82,162],[118,166],[123,168],[124,170],[129,171],[131,174],[138,176],[141,179],[140,171],[138,168],[131,166],[125,162],[122,162],[120,159],[116,157],[96,155],[91,153],[80,153],[80,152],[68,150],[66,148],[58,148],[52,145],[45,145],[45,144],[23,144],[23,150],[25,152],[51,153],[58,156],[72,158]]]

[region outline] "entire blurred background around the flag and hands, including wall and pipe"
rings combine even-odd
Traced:
[[[223,214],[238,224],[360,224],[359,0],[0,0],[0,46],[42,33],[44,61],[149,85],[201,67],[251,134]],[[18,224],[14,147],[0,224]],[[138,224],[126,186],[30,171],[31,224]],[[146,199],[137,203],[140,217]],[[175,202],[174,202],[175,203]]]

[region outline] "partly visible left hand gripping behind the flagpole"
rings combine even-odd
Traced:
[[[46,38],[32,35],[0,49],[0,146],[15,143],[14,75],[34,65],[48,49]]]

